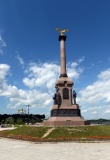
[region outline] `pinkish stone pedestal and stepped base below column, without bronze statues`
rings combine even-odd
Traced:
[[[45,126],[78,126],[89,125],[81,116],[78,104],[72,103],[73,82],[68,77],[60,77],[56,82],[58,92],[61,95],[61,104],[54,104],[51,109],[51,117],[44,122]],[[75,100],[76,102],[76,100]]]

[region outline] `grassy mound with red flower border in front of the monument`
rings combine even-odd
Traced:
[[[0,132],[0,136],[32,141],[110,140],[109,125],[55,127],[43,138],[50,129],[52,127],[22,126]]]

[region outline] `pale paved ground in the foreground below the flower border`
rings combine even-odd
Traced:
[[[110,160],[110,143],[34,143],[0,138],[0,160]]]

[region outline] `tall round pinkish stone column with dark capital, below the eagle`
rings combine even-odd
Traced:
[[[65,35],[60,35],[59,36],[59,41],[60,41],[60,77],[67,77],[66,51],[65,51],[66,36]]]

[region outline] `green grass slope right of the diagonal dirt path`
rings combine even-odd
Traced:
[[[110,136],[110,126],[57,127],[48,138]]]

